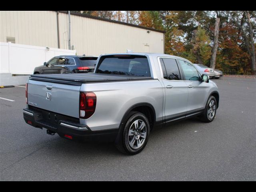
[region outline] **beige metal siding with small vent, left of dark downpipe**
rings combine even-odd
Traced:
[[[53,11],[0,11],[1,42],[6,36],[16,43],[58,47],[57,19]]]

